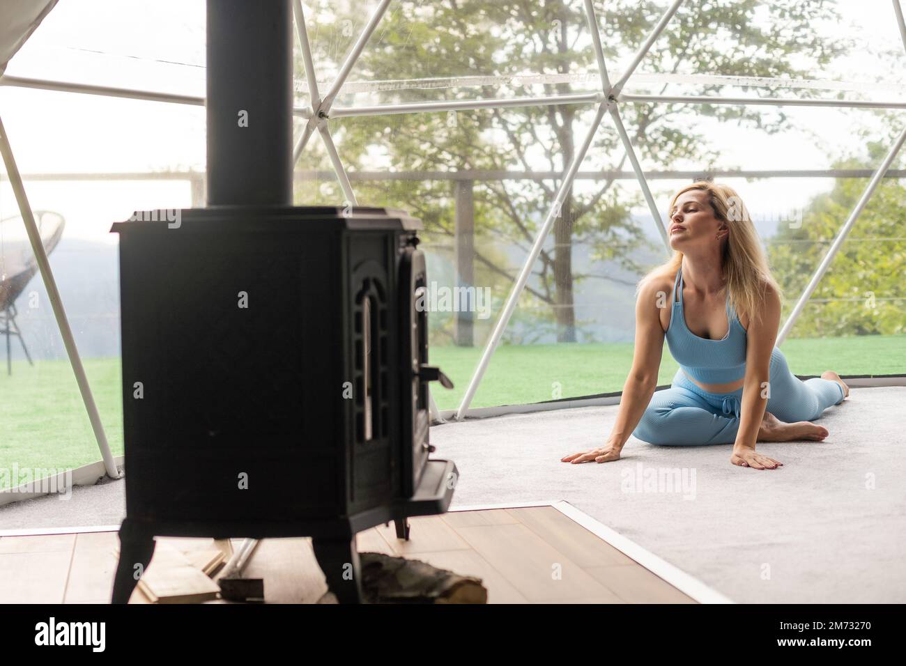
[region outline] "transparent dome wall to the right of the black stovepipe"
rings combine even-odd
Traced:
[[[612,82],[669,5],[593,4]],[[718,3],[707,12],[699,4],[680,5],[623,89],[632,101],[621,103],[620,112],[661,219],[671,194],[696,177],[714,175],[737,188],[785,288],[786,321],[896,140],[901,126],[895,111],[660,103],[644,96],[901,101],[906,87],[895,65],[903,60],[903,45],[891,7],[865,13],[834,4],[769,5]],[[308,23],[316,35],[315,69],[333,75],[370,14],[318,7]],[[337,105],[600,90],[582,2],[533,5],[530,13],[518,3],[465,3],[458,14],[445,7],[391,3],[343,88],[350,92]],[[845,34],[841,16],[849,26]],[[299,72],[304,74],[301,59]],[[319,73],[322,88],[331,75]],[[300,102],[306,99],[300,95]],[[457,385],[434,391],[441,409],[460,404],[596,107],[538,104],[331,121],[360,202],[404,208],[425,221],[423,247],[436,294],[431,357]],[[305,202],[342,198],[320,145],[299,166],[321,169],[318,196],[303,194]],[[853,169],[859,178],[846,178]],[[734,171],[752,177],[719,175]],[[313,192],[312,182],[303,189]],[[875,284],[856,270],[867,260],[865,250],[876,264],[882,257],[894,265],[901,260],[895,219],[885,223],[874,212],[890,188],[899,188],[898,179],[883,181],[877,202],[870,200],[783,342],[795,372],[906,369],[897,353],[903,340],[896,336],[906,323],[899,285]],[[608,116],[569,195],[472,407],[622,390],[631,367],[635,285],[667,255]],[[837,202],[833,212],[824,209],[828,198]],[[474,287],[474,312],[455,312],[458,286]],[[867,295],[856,300],[856,291]],[[879,309],[842,316],[841,309],[863,302]],[[834,325],[825,325],[828,317]],[[863,346],[867,338],[860,344],[845,340],[869,334],[875,336],[871,346]],[[670,383],[676,369],[665,345],[659,383]]]

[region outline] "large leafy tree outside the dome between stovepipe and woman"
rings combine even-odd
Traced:
[[[619,72],[613,63],[626,63],[660,20],[665,3],[637,0],[594,2],[602,26],[605,62],[612,80]],[[319,5],[320,7],[320,5]],[[376,81],[461,76],[466,73],[496,76],[519,74],[596,74],[582,0],[438,0],[391,5],[362,53],[350,80]],[[310,20],[317,24],[321,63],[342,62],[367,17],[361,7],[332,10],[320,7]],[[834,19],[833,2],[798,0],[701,0],[682,5],[646,55],[645,72],[698,72],[739,76],[808,77],[845,53],[849,43],[811,38],[813,25]],[[350,26],[354,29],[350,29]],[[792,56],[795,56],[792,57]],[[797,63],[794,65],[793,63]],[[300,76],[304,77],[299,59]],[[462,100],[475,97],[556,95],[587,92],[600,86],[594,77],[573,82],[480,88],[441,87],[399,90],[381,94],[380,103]],[[702,85],[688,94],[717,94],[722,85]],[[667,85],[660,88],[664,92]],[[803,96],[815,93],[802,91]],[[349,96],[338,103],[358,101]],[[378,103],[373,97],[364,103]],[[361,102],[360,102],[361,103]],[[345,164],[369,169],[374,164],[400,171],[453,171],[463,169],[562,173],[577,150],[594,114],[593,104],[525,106],[362,116],[332,121]],[[713,167],[719,147],[697,132],[696,119],[710,116],[735,121],[760,131],[789,129],[783,108],[768,113],[764,107],[688,104],[622,104],[623,123],[643,164],[662,169],[694,156],[700,169]],[[453,118],[455,121],[451,122]],[[310,147],[313,148],[313,147]],[[323,158],[319,166],[327,168]],[[375,158],[379,153],[380,158]],[[316,154],[304,156],[305,167],[318,164]],[[612,122],[605,116],[583,170],[622,169],[625,152]],[[721,164],[721,167],[731,165]],[[742,165],[738,165],[742,166]],[[613,179],[593,181],[593,188],[573,186],[566,193],[550,242],[535,265],[526,289],[530,298],[551,308],[560,342],[576,340],[574,285],[588,279],[573,270],[573,248],[590,247],[594,259],[616,260],[638,271],[631,251],[648,244],[630,218],[629,209],[641,201],[638,190],[614,188]],[[477,238],[495,239],[527,253],[538,226],[554,199],[559,180],[532,179],[477,182],[475,228]],[[360,203],[410,210],[426,224],[429,237],[452,238],[454,218],[450,183],[439,179],[356,183]],[[579,191],[582,189],[583,191]],[[585,191],[588,190],[588,191]],[[320,190],[306,201],[326,197]],[[338,189],[330,191],[335,202]],[[476,244],[476,282],[511,283],[515,269],[487,256]],[[512,263],[512,262],[510,262]],[[595,275],[608,279],[607,276]]]

